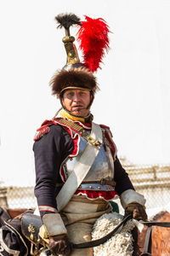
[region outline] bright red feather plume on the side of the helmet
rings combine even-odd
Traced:
[[[102,58],[105,55],[105,50],[109,49],[108,32],[109,26],[105,20],[91,19],[85,16],[86,21],[81,21],[82,26],[77,32],[77,40],[80,42],[80,49],[84,64],[92,71],[96,71]]]

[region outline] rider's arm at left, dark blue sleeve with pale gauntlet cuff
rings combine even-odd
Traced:
[[[36,166],[35,195],[48,235],[56,236],[66,232],[57,210],[56,183],[61,183],[59,168],[65,158],[71,154],[74,145],[71,136],[62,127],[52,125],[49,128],[48,134],[34,143],[33,147]]]

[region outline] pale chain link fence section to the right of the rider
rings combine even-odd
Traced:
[[[170,165],[135,166],[122,160],[134,189],[144,195],[146,210],[150,216],[161,210],[170,212]],[[122,213],[122,207],[119,201]],[[155,209],[155,211],[154,211]]]

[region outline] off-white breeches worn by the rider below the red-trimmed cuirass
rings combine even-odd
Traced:
[[[73,196],[60,212],[68,236],[73,243],[91,241],[95,221],[104,213],[111,212],[111,205],[103,199],[88,200],[85,196]],[[94,249],[73,249],[71,256],[93,256]]]

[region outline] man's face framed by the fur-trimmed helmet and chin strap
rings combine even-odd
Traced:
[[[86,117],[89,113],[88,105],[90,103],[89,90],[69,89],[65,90],[62,102],[65,108],[73,115]]]

